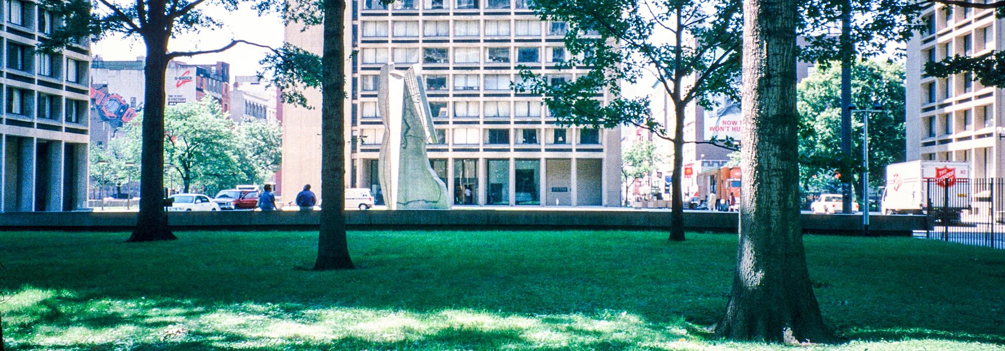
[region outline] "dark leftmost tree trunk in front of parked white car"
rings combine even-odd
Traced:
[[[153,13],[154,10],[151,10]],[[152,15],[153,16],[153,15]],[[154,19],[152,18],[151,21]],[[153,25],[150,24],[150,25]],[[143,149],[140,163],[140,212],[128,242],[178,239],[164,212],[164,74],[168,68],[168,37],[148,33],[143,109]]]

